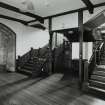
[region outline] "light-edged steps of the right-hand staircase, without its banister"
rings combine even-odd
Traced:
[[[89,88],[105,92],[105,65],[95,67],[95,70],[89,78]]]

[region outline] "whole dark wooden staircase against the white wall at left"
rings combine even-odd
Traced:
[[[48,73],[48,48],[32,49],[17,60],[17,72],[30,76],[39,76]]]

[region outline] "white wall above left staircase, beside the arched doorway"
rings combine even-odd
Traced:
[[[16,56],[23,55],[30,47],[39,48],[48,44],[48,31],[24,26],[18,22],[0,19],[0,22],[10,27],[16,33]]]

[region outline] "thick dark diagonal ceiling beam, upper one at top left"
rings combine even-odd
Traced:
[[[17,12],[17,13],[20,13],[20,14],[23,14],[23,15],[26,15],[26,16],[30,16],[32,18],[35,18],[35,19],[39,20],[41,23],[44,22],[44,20],[43,20],[43,18],[41,16],[32,14],[30,12],[22,12],[22,11],[20,11],[19,8],[16,8],[14,6],[8,5],[6,3],[0,2],[0,7],[8,9],[8,10],[11,10],[11,11],[14,11],[14,12]]]

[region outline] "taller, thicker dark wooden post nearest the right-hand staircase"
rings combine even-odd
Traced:
[[[83,11],[78,12],[78,28],[79,28],[79,86],[82,86],[83,74]]]

